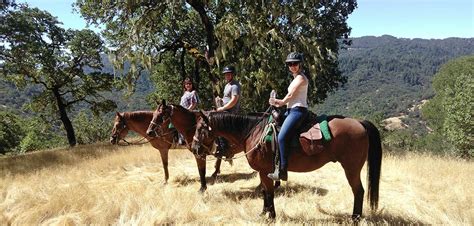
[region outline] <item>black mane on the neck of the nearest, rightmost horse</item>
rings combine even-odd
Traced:
[[[211,112],[209,115],[209,124],[211,128],[221,131],[233,132],[240,131],[242,134],[249,134],[262,117],[238,115],[228,112]]]

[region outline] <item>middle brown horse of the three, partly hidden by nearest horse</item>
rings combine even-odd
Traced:
[[[146,134],[150,137],[160,136],[165,132],[163,130],[164,125],[171,122],[178,132],[184,136],[188,144],[188,149],[192,151],[190,144],[193,140],[197,118],[199,118],[200,115],[199,112],[189,111],[180,105],[166,105],[166,101],[163,100],[161,104],[158,104],[158,107],[153,113],[153,118],[150,121]],[[193,152],[199,170],[199,179],[201,182],[200,192],[204,192],[207,189],[206,156],[213,152],[214,139],[207,140],[204,144],[206,145],[203,145],[198,151]],[[231,148],[231,151],[235,152],[235,149]],[[220,172],[221,161],[220,158],[216,160],[215,171],[212,174],[214,178],[216,178]]]

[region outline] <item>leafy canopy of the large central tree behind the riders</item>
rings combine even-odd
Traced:
[[[310,102],[317,103],[345,82],[337,68],[338,42],[347,38],[346,20],[355,1],[106,1],[77,0],[81,14],[93,24],[105,24],[104,37],[114,47],[112,60],[122,81],[134,84],[139,72],[151,71],[158,89],[172,90],[191,76],[199,85],[204,106],[221,93],[220,68],[237,67],[243,107],[262,110],[271,89],[283,96],[291,78],[286,54],[301,51],[310,75]],[[165,66],[163,66],[165,65]],[[179,75],[179,76],[178,76]],[[176,90],[176,91],[175,91]],[[180,96],[180,94],[178,95]]]

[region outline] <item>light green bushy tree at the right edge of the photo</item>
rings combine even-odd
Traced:
[[[452,60],[435,75],[436,96],[423,108],[430,125],[460,150],[474,155],[474,55]]]

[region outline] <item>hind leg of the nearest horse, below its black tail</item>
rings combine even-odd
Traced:
[[[352,210],[352,219],[359,220],[362,217],[362,206],[364,204],[364,187],[360,180],[360,170],[351,170],[344,168],[347,181],[354,194],[354,208]]]

